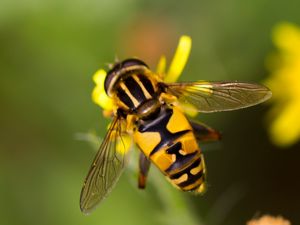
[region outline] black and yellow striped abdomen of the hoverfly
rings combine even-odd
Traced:
[[[157,118],[140,121],[134,139],[144,154],[183,191],[202,192],[203,155],[193,130],[176,107],[163,107]]]

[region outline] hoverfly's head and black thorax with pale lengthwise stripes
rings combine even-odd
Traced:
[[[156,76],[140,60],[128,59],[116,64],[108,72],[105,90],[125,115],[135,114],[147,119],[160,110],[158,97],[161,88]]]

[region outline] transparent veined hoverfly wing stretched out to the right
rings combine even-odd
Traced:
[[[164,84],[179,102],[209,113],[246,108],[269,99],[272,92],[265,86],[242,82],[186,82]]]

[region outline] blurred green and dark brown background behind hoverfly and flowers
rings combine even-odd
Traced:
[[[267,104],[199,115],[223,133],[220,143],[203,146],[204,196],[157,183],[154,168],[139,191],[128,170],[84,216],[79,194],[96,149],[75,138],[105,134],[109,120],[91,101],[91,78],[115,56],[138,56],[155,69],[187,34],[193,48],[181,80],[261,82],[272,27],[300,24],[299,8],[298,0],[1,0],[0,224],[232,225],[265,213],[300,224],[300,145],[270,143]]]

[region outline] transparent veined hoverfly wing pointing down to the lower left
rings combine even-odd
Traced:
[[[122,144],[122,123],[114,118],[91,165],[80,195],[83,213],[90,213],[108,195],[123,172],[126,149]]]

